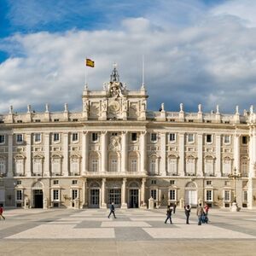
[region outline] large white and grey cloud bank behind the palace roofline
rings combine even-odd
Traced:
[[[139,89],[143,54],[149,108],[157,110],[160,102],[170,111],[177,110],[180,102],[189,111],[196,111],[199,103],[207,111],[216,104],[228,112],[234,112],[237,104],[248,108],[255,102],[256,30],[217,13],[216,9],[215,15],[206,13],[193,26],[156,26],[135,18],[123,20],[116,31],[38,32],[6,38],[2,47],[12,58],[0,65],[0,113],[7,112],[10,104],[18,110],[26,109],[26,104],[42,110],[45,102],[59,110],[65,102],[81,108],[85,57],[96,61],[95,68],[88,68],[90,89],[102,89],[114,61],[128,89]]]

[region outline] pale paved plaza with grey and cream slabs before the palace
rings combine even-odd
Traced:
[[[210,211],[190,224],[182,210],[14,209],[0,221],[0,255],[255,255],[256,212]]]

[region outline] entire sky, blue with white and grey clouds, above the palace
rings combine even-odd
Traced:
[[[145,84],[148,109],[240,112],[256,105],[254,0],[0,0],[0,113],[82,108],[109,81]]]

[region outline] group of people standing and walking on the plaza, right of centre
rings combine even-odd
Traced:
[[[175,213],[175,207],[167,207],[166,210],[166,221],[165,224],[167,223],[168,219],[170,220],[170,224],[172,224],[172,211],[173,213]],[[186,224],[189,224],[189,216],[190,216],[190,212],[191,212],[191,207],[189,205],[186,205],[184,207],[184,212],[185,212],[185,216],[186,216]],[[196,215],[198,217],[198,224],[201,225],[202,223],[207,224],[208,223],[208,212],[209,212],[209,207],[207,205],[207,203],[205,204],[204,207],[201,206],[201,204],[198,205],[198,207],[196,208]]]

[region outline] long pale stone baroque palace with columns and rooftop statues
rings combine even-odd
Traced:
[[[0,114],[0,203],[5,207],[256,205],[256,113],[147,109],[116,67],[103,90],[85,85],[79,113]],[[236,172],[236,180],[229,177]]]

